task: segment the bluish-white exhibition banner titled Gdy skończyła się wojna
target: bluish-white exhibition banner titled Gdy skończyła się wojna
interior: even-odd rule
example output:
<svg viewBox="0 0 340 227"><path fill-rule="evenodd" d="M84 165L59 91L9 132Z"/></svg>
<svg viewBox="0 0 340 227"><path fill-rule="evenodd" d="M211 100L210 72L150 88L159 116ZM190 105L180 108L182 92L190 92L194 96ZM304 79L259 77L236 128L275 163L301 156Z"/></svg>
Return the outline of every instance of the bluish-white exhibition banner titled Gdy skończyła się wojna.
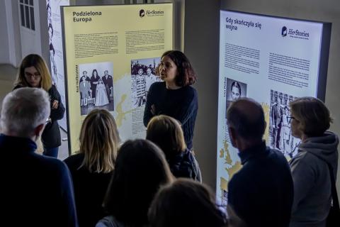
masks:
<svg viewBox="0 0 340 227"><path fill-rule="evenodd" d="M258 101L266 118L264 139L290 159L299 140L290 133L289 103L324 99L331 23L220 11L217 126L217 199L227 204L227 184L241 167L227 128L229 104Z"/></svg>

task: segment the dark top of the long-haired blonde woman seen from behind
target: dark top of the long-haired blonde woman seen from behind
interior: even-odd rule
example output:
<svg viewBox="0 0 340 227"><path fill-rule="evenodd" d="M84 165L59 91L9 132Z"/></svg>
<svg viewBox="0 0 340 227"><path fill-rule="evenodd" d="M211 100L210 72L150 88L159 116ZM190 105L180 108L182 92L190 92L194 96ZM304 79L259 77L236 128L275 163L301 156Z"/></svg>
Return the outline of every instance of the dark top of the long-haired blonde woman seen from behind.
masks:
<svg viewBox="0 0 340 227"><path fill-rule="evenodd" d="M90 172L86 167L80 167L83 160L84 154L77 154L67 157L64 162L73 179L79 226L93 227L105 216L102 204L112 172Z"/></svg>

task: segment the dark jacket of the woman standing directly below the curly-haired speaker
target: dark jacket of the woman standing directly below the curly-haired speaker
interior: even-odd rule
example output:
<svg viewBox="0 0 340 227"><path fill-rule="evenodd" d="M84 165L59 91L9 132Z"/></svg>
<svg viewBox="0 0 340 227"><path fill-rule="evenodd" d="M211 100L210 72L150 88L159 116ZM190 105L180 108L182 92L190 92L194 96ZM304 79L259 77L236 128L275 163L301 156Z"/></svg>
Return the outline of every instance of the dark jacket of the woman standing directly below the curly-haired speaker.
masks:
<svg viewBox="0 0 340 227"><path fill-rule="evenodd" d="M202 182L200 167L190 150L186 149L178 155L169 158L167 161L175 177L186 177Z"/></svg>

